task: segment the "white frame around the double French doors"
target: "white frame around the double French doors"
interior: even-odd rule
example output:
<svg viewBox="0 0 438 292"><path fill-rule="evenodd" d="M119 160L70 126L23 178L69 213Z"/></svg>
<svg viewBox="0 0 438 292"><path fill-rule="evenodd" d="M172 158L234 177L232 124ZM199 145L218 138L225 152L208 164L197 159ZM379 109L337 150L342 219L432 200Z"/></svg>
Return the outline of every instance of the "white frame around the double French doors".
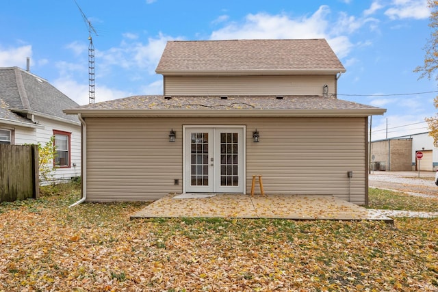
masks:
<svg viewBox="0 0 438 292"><path fill-rule="evenodd" d="M187 130L188 129L242 129L242 191L238 191L239 194L245 194L246 192L246 126L245 125L227 125L227 124L211 124L211 125L183 125L183 193L185 194L187 191L188 185L188 165L190 165L190 161L187 159L187 154L190 149L187 149L188 137ZM212 142L214 141L211 140ZM215 150L214 155L216 156L217 150ZM216 160L216 157L215 157ZM215 161L219 162L219 161ZM189 164L187 164L189 163Z"/></svg>

